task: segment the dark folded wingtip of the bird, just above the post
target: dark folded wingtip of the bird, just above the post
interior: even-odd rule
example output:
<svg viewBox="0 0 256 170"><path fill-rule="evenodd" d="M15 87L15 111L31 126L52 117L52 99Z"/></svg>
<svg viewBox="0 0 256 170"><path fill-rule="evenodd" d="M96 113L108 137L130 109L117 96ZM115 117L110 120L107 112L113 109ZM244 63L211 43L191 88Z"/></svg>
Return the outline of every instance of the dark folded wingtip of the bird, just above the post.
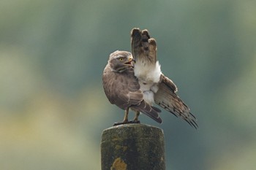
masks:
<svg viewBox="0 0 256 170"><path fill-rule="evenodd" d="M153 107L150 104L147 104L146 101L141 101L140 104L132 106L132 109L144 113L148 117L151 117L151 119L155 120L157 123L162 123L162 119L159 117L161 110L157 107Z"/></svg>

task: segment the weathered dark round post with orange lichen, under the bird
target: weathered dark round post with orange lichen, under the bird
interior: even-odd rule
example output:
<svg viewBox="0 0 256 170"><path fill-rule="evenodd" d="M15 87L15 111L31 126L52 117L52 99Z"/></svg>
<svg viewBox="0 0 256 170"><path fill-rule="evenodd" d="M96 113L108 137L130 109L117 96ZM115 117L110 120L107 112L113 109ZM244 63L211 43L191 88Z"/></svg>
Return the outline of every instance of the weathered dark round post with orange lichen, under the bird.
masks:
<svg viewBox="0 0 256 170"><path fill-rule="evenodd" d="M103 131L102 170L165 170L165 142L161 128L124 124Z"/></svg>

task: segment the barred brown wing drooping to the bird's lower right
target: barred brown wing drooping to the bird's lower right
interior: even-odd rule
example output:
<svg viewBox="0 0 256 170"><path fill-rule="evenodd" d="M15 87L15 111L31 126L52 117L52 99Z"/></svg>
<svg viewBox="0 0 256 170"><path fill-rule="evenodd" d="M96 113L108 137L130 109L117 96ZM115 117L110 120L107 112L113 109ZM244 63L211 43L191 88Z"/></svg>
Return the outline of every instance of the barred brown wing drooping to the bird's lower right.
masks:
<svg viewBox="0 0 256 170"><path fill-rule="evenodd" d="M190 112L189 107L179 98L176 94L176 85L164 74L161 75L159 82L159 90L154 94L154 101L160 107L166 109L168 112L173 113L176 117L181 117L189 125L197 128L196 118Z"/></svg>

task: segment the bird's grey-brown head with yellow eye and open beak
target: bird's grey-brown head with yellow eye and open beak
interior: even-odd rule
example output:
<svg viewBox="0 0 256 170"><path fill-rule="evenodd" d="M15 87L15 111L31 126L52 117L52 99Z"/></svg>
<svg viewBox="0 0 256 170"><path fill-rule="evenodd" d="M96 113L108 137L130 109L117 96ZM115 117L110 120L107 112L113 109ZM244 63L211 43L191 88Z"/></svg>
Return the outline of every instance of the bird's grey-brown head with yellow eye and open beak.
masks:
<svg viewBox="0 0 256 170"><path fill-rule="evenodd" d="M115 51L110 54L108 63L110 67L115 72L124 72L125 70L132 68L135 62L132 57L132 53L127 51Z"/></svg>

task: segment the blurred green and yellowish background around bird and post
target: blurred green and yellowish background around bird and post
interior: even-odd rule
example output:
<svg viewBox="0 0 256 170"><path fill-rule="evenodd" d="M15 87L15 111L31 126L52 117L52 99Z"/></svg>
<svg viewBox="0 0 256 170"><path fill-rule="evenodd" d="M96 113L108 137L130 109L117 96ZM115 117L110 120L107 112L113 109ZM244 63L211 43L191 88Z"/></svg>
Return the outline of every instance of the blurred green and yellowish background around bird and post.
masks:
<svg viewBox="0 0 256 170"><path fill-rule="evenodd" d="M157 39L162 72L199 129L162 112L168 170L255 169L256 1L0 2L0 169L100 169L102 130L122 120L102 90L129 32ZM133 115L132 115L133 117Z"/></svg>

